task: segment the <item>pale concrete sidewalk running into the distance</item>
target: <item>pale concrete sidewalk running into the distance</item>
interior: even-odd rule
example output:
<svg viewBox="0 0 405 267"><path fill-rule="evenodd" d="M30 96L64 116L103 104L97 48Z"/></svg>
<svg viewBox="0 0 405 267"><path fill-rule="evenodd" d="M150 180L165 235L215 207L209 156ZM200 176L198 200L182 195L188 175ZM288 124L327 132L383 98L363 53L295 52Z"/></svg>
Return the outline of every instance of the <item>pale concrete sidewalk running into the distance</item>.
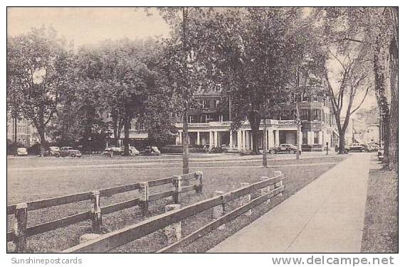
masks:
<svg viewBox="0 0 405 267"><path fill-rule="evenodd" d="M207 252L359 253L369 159L353 154Z"/></svg>

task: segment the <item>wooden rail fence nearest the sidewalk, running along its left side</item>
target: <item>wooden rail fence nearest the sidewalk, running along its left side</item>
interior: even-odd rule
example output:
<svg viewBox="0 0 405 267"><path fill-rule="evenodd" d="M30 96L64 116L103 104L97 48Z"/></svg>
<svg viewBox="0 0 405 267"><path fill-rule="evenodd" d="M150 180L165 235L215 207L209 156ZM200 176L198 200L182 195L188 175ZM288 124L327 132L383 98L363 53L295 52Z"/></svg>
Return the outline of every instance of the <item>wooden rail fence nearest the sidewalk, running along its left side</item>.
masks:
<svg viewBox="0 0 405 267"><path fill-rule="evenodd" d="M189 205L181 209L175 209L164 214L150 217L149 219L146 219L137 224L133 224L129 227L112 231L107 234L103 234L96 239L87 241L83 244L78 244L77 246L73 246L72 248L66 249L65 251L61 252L107 252L131 241L134 241L135 239L139 239L142 236L146 236L147 234L150 234L154 231L157 231L164 227L169 227L172 224L177 224L183 219L198 214L199 212L204 212L207 209L218 206L224 207L227 202L248 196L248 202L243 202L243 205L241 205L241 207L238 207L237 209L234 209L232 212L228 212L227 214L223 214L223 216L215 219L213 222L206 224L204 227L201 227L200 229L192 232L191 234L185 236L182 239L179 239L173 244L170 244L169 246L157 252L179 251L182 249L182 247L190 244L193 241L196 241L196 239L201 238L205 234L208 234L210 231L220 227L226 222L229 222L231 219L234 219L246 212L250 212L250 210L256 205L266 202L276 195L281 195L285 190L285 186L283 185L284 178L285 174L275 172L275 176L272 178L261 178L260 182L248 184L239 188L238 190L233 190L226 194L217 195L216 197L211 197L207 200L197 202L193 205ZM256 197L251 200L251 193L257 190L260 190L261 192L260 197Z"/></svg>

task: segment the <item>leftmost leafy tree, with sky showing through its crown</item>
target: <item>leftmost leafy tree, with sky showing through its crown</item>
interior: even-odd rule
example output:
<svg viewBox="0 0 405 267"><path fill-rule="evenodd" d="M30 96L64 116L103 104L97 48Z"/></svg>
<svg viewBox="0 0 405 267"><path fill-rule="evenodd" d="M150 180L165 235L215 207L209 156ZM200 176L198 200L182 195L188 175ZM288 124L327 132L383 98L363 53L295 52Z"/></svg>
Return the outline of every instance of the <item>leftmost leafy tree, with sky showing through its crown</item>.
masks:
<svg viewBox="0 0 405 267"><path fill-rule="evenodd" d="M46 126L56 114L60 92L68 83L65 77L70 54L56 31L44 27L9 37L8 47L8 68L18 73L9 94L21 96L21 114L36 127L43 156Z"/></svg>

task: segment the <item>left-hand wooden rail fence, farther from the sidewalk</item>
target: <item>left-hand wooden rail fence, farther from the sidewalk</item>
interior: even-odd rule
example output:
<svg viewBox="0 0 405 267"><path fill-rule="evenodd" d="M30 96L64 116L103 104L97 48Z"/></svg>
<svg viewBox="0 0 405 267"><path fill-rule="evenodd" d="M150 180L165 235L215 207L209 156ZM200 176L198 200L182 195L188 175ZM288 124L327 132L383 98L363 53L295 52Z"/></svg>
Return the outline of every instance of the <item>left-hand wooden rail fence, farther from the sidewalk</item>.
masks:
<svg viewBox="0 0 405 267"><path fill-rule="evenodd" d="M194 180L192 182L191 180ZM185 181L185 182L182 182ZM191 182L190 182L191 181ZM66 195L63 197L53 197L46 200L35 200L32 202L19 203L7 206L7 215L14 214L13 230L7 232L7 242L13 241L15 244L15 252L26 251L26 238L36 234L42 234L46 231L51 231L61 227L66 227L70 224L76 224L90 219L92 222L93 231L99 233L102 227L102 214L117 212L121 209L140 206L142 215L147 216L149 202L161 200L166 197L172 197L174 203L179 202L179 194L184 192L195 191L197 194L202 192L203 173L188 173L185 175L174 175L171 178L163 178L158 180L150 180L147 182L135 182L130 185L120 185L117 187L105 188L93 192L83 192L75 195ZM172 189L164 192L159 192L154 195L149 195L149 187L157 187L159 185L172 184ZM183 184L191 184L182 186ZM120 202L105 207L100 207L100 197L107 197L122 192L139 190L140 197L135 197L125 202ZM28 211L35 209L43 209L65 205L73 202L91 200L90 211L81 212L78 214L55 219L51 222L37 224L27 228Z"/></svg>

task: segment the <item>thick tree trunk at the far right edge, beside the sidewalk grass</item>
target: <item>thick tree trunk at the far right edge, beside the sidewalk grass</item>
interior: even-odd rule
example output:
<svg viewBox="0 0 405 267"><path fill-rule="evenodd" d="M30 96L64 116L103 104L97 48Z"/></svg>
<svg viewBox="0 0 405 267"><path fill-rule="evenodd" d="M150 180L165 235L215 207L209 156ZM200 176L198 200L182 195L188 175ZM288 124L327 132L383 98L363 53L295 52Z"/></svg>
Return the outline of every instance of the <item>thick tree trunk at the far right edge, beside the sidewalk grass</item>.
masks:
<svg viewBox="0 0 405 267"><path fill-rule="evenodd" d="M398 50L394 38L389 48L391 110L389 112L389 170L398 170ZM385 154L385 151L384 151Z"/></svg>

